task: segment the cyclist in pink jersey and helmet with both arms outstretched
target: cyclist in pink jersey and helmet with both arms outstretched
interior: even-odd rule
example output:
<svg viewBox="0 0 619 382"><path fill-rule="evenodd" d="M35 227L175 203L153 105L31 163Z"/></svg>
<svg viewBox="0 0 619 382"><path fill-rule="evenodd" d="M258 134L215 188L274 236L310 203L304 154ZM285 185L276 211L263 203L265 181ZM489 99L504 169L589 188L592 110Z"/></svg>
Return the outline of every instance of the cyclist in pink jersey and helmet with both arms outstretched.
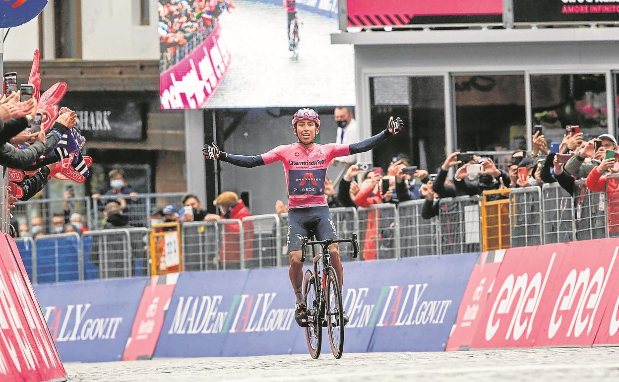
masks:
<svg viewBox="0 0 619 382"><path fill-rule="evenodd" d="M315 235L317 240L337 239L335 224L327 205L324 194L324 182L327 167L333 158L358 154L378 147L389 137L404 129L402 119L391 117L387 128L373 137L353 144L316 144L316 134L320 131L320 118L316 111L303 108L292 118L292 132L297 142L280 145L266 154L249 157L232 155L220 151L217 145L204 145L204 156L219 159L240 167L256 167L270 165L275 162L284 163L286 183L288 186L288 258L290 269L288 274L292 289L295 292L295 320L299 326L308 326L305 299L301 292L303 283L303 263L301 263L301 245L303 237ZM332 265L337 274L337 280L342 288L344 269L339 257L339 245L329 246ZM348 315L344 313L344 324Z"/></svg>

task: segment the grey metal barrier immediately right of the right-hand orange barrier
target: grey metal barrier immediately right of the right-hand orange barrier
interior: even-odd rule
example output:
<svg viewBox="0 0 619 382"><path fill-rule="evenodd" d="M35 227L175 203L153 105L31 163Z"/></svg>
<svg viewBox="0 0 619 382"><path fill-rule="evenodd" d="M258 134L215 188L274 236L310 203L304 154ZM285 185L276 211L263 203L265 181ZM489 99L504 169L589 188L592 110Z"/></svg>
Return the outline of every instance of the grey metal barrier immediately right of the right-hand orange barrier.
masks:
<svg viewBox="0 0 619 382"><path fill-rule="evenodd" d="M542 244L542 189L513 188L509 194L511 248Z"/></svg>

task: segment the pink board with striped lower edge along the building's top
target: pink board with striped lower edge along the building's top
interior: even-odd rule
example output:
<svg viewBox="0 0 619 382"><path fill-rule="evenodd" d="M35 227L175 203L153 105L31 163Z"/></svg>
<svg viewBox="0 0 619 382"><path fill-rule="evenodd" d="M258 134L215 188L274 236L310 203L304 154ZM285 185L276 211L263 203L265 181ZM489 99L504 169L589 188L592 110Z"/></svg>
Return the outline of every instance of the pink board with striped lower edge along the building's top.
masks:
<svg viewBox="0 0 619 382"><path fill-rule="evenodd" d="M503 0L348 0L348 26L500 23Z"/></svg>

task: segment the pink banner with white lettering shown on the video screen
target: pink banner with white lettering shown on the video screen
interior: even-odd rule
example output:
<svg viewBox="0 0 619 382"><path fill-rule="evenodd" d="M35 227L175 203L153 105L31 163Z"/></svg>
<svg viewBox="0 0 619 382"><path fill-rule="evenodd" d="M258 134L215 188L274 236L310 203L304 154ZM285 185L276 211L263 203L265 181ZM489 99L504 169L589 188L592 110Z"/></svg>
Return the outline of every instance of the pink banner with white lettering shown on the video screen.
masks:
<svg viewBox="0 0 619 382"><path fill-rule="evenodd" d="M162 109L202 108L222 83L230 53L220 24L202 43L159 75Z"/></svg>

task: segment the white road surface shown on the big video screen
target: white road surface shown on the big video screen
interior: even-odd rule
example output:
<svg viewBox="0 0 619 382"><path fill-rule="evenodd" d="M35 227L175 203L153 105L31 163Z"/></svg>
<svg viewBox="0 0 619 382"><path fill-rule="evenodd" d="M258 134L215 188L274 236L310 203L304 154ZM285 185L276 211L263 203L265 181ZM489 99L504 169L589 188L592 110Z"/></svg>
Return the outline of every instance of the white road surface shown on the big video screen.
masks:
<svg viewBox="0 0 619 382"><path fill-rule="evenodd" d="M331 45L337 21L298 12L298 60L288 51L284 7L238 0L220 18L232 64L208 108L353 105L353 48Z"/></svg>

